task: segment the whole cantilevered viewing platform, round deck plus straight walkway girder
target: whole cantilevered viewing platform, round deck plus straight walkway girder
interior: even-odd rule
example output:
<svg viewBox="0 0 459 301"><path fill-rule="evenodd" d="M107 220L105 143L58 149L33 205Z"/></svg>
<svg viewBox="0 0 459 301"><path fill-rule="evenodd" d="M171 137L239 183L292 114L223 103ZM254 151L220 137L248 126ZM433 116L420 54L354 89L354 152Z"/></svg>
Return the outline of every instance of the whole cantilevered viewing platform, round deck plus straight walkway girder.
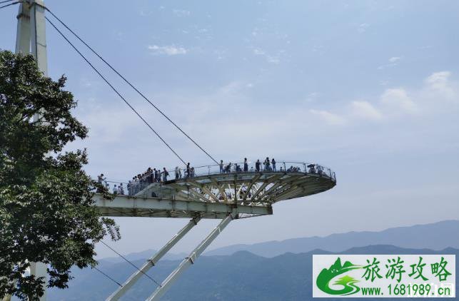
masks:
<svg viewBox="0 0 459 301"><path fill-rule="evenodd" d="M329 190L336 185L330 168L316 163L278 161L205 165L168 169L168 180L146 175L118 183L127 194L114 200L96 195L101 215L148 218L246 218L273 214L273 203ZM172 178L172 180L170 180Z"/></svg>

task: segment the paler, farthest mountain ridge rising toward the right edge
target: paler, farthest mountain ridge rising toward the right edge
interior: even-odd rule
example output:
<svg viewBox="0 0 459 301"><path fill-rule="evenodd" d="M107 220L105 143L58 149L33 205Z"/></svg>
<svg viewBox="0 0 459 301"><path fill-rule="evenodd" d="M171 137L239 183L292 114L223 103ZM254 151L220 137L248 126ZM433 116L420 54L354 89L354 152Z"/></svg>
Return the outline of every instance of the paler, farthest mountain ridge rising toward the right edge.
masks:
<svg viewBox="0 0 459 301"><path fill-rule="evenodd" d="M349 232L326 237L291 238L253 245L229 245L210 250L204 255L231 255L241 250L263 257L274 257L286 252L302 253L314 249L342 252L368 245L394 245L400 248L443 250L459 248L459 220L445 220L438 223L389 228L379 232Z"/></svg>

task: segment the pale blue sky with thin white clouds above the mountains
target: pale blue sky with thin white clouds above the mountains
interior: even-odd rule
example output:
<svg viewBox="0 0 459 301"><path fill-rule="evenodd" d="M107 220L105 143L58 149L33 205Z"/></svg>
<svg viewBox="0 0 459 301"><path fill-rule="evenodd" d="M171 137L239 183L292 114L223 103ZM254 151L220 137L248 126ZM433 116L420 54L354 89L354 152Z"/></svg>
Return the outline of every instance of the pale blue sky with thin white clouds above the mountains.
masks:
<svg viewBox="0 0 459 301"><path fill-rule="evenodd" d="M236 220L209 249L459 219L458 1L46 6L217 160L269 156L336 172L332 190ZM0 10L0 49L14 50L17 9ZM67 76L79 101L74 113L90 128L70 146L88 149L89 174L126 181L179 165L49 24L46 36L49 76ZM84 53L186 161L212 163ZM116 222L122 239L110 244L126 254L158 250L187 220ZM201 221L171 252L191 251L217 223ZM97 251L114 256L104 245Z"/></svg>

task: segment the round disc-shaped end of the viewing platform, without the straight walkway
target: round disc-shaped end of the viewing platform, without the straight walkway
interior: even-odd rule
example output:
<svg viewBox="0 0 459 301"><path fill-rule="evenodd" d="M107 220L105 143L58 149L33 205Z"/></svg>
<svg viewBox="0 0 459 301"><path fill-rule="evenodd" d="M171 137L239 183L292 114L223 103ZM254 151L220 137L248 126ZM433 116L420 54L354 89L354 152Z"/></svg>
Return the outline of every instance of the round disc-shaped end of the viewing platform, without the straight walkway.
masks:
<svg viewBox="0 0 459 301"><path fill-rule="evenodd" d="M175 175L175 171L170 172ZM301 198L329 190L336 185L336 175L330 168L315 163L277 162L226 163L206 165L182 177L167 180L164 187L173 188L178 200L191 198L211 203L241 205L273 204L280 200Z"/></svg>

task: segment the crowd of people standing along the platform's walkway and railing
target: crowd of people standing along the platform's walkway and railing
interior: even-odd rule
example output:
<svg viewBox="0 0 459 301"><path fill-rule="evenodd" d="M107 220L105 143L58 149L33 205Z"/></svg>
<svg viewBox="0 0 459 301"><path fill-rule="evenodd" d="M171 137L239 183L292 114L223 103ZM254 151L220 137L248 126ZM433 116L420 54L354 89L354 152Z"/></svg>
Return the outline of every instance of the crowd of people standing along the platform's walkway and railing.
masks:
<svg viewBox="0 0 459 301"><path fill-rule="evenodd" d="M242 165L242 166L241 166ZM283 163L283 167L279 168L276 167L276 160L272 158L270 160L269 157L266 157L263 162L259 159L256 160L255 166L251 166L249 170L249 162L247 158L244 158L243 163L223 163L223 160L220 160L218 164L220 168L220 173L231 173L231 172L261 172L261 171L279 171L279 172L286 172L286 173L316 173L318 175L323 175L323 167L321 165L316 164L309 164L305 165L305 170L303 171L301 167L291 165L290 168L286 168L286 164ZM209 169L210 170L210 169ZM174 170L174 177L176 180L181 178L193 178L196 176L195 168L190 165L190 163L186 164L186 168L178 168L176 166ZM164 167L162 170L161 168L148 168L144 173L139 173L138 175L134 175L131 180L128 181L126 185L126 190L128 195L136 195L139 191L146 188L146 186L152 183L165 183L168 181L169 172ZM106 178L104 178L104 174L98 175L98 182L101 185L105 185L106 188L110 191L110 185L107 183ZM118 195L124 195L123 183L114 184L111 192Z"/></svg>

